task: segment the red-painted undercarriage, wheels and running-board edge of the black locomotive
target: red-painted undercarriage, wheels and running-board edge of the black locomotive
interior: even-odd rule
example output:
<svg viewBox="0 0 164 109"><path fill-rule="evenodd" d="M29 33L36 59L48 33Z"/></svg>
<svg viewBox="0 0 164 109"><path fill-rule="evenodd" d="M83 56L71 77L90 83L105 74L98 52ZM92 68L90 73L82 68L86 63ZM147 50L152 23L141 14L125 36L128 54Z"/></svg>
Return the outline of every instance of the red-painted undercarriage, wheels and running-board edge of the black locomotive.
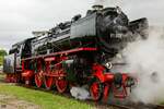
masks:
<svg viewBox="0 0 164 109"><path fill-rule="evenodd" d="M26 85L32 84L32 80L35 80L37 87L42 87L44 84L47 89L50 89L51 86L56 85L59 93L65 93L68 88L69 82L66 80L66 71L62 69L61 62L68 59L68 55L77 53L81 51L94 52L97 48L77 48L67 51L55 52L50 55L44 55L38 57L32 57L22 59L22 71L20 73L7 74L7 82L19 82L23 81ZM42 61L45 61L45 68L42 65ZM56 61L54 69L50 70L50 63ZM37 63L36 71L30 70L28 66L31 62ZM45 70L44 70L44 69ZM119 89L114 84L115 74L110 72L104 73L104 66L97 63L93 63L92 66L92 76L89 76L87 80L93 77L96 78L90 87L91 96L94 100L99 100L102 97L107 100L109 92L114 94L116 98L126 98L127 88L130 86L127 85L127 80L129 78L128 74L122 73L122 82L119 86ZM101 90L99 85L103 84L103 90ZM120 90L121 87L121 90Z"/></svg>

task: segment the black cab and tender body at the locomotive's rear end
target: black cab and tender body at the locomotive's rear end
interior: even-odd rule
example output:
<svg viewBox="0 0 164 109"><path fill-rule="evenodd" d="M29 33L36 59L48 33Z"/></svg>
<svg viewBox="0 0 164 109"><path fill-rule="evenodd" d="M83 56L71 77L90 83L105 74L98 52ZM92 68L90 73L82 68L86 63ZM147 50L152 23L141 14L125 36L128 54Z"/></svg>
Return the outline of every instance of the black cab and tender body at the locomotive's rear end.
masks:
<svg viewBox="0 0 164 109"><path fill-rule="evenodd" d="M16 73L22 71L21 59L32 56L31 40L32 38L12 46L9 56L4 57L4 73Z"/></svg>

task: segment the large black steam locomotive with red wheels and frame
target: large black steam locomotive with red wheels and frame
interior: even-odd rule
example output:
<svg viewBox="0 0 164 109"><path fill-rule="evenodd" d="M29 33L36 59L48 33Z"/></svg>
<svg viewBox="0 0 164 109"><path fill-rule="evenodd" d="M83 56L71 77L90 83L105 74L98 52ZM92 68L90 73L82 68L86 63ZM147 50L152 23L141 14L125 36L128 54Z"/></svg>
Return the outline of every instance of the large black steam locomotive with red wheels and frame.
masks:
<svg viewBox="0 0 164 109"><path fill-rule="evenodd" d="M86 15L60 23L35 37L12 46L4 58L7 82L57 87L65 93L72 86L87 86L94 100L126 98L134 78L127 73L110 72L113 60L138 38L148 37L145 17L129 22L120 8L93 5Z"/></svg>

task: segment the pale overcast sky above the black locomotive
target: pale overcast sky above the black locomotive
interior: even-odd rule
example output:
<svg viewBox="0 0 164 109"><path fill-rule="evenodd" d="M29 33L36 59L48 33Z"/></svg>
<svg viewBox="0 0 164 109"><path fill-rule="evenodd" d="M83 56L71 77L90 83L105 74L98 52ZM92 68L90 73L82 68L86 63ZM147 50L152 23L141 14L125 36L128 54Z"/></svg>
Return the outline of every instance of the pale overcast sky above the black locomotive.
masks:
<svg viewBox="0 0 164 109"><path fill-rule="evenodd" d="M164 25L164 0L0 0L0 48L33 37L33 31L47 31L85 15L94 3L119 5L130 20L148 17L150 25Z"/></svg>

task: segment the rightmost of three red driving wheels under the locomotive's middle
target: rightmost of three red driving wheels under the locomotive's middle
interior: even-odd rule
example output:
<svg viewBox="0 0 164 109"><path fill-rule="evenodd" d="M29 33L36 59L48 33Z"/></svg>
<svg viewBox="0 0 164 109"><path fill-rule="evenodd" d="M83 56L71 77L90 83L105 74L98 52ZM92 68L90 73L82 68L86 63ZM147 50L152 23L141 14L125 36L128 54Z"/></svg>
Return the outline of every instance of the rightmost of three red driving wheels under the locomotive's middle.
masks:
<svg viewBox="0 0 164 109"><path fill-rule="evenodd" d="M65 78L56 80L56 86L57 86L57 89L59 93L63 93L63 92L66 92L66 89L68 87L68 82Z"/></svg>

